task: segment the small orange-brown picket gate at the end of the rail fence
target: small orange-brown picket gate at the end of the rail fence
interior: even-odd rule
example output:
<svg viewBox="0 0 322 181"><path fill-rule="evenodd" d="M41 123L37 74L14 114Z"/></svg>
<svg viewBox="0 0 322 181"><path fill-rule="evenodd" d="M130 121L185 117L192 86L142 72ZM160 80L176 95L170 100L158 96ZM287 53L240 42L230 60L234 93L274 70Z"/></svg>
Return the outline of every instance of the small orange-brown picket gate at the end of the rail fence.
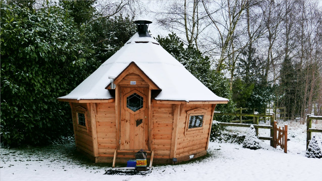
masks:
<svg viewBox="0 0 322 181"><path fill-rule="evenodd" d="M287 153L287 124L281 129L280 126L277 127L277 121L274 121L273 130L273 147L280 146L280 148L284 149L284 153Z"/></svg>

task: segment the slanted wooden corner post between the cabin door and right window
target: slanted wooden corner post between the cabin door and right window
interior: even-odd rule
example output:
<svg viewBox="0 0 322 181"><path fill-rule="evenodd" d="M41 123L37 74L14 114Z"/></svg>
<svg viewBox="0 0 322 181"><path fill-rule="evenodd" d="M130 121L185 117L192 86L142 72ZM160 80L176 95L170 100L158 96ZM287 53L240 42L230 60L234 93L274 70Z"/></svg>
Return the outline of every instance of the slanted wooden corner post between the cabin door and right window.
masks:
<svg viewBox="0 0 322 181"><path fill-rule="evenodd" d="M175 106L174 106L170 158L175 158L176 157L177 137L178 137L178 122L179 122L179 118L180 118L180 107L181 106L182 105L180 105L180 104L175 104Z"/></svg>

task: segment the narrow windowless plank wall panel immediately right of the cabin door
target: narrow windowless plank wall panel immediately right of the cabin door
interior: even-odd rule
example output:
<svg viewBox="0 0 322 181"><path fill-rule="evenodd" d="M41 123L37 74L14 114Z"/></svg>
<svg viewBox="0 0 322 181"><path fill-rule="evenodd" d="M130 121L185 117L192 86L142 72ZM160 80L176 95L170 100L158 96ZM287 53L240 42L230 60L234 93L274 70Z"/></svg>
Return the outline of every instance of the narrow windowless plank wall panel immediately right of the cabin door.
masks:
<svg viewBox="0 0 322 181"><path fill-rule="evenodd" d="M154 158L170 159L173 105L154 103L152 109L152 150L155 150Z"/></svg>

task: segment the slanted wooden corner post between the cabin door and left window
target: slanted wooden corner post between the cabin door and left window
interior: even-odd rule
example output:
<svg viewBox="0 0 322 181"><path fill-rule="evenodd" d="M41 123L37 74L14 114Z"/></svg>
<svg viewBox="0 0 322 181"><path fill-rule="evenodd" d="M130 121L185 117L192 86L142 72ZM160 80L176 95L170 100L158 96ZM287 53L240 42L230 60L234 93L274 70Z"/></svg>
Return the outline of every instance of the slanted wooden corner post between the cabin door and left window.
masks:
<svg viewBox="0 0 322 181"><path fill-rule="evenodd" d="M93 156L99 156L98 140L97 140L97 129L96 129L96 103L89 103L90 108L90 124L92 127L92 140L93 140Z"/></svg>

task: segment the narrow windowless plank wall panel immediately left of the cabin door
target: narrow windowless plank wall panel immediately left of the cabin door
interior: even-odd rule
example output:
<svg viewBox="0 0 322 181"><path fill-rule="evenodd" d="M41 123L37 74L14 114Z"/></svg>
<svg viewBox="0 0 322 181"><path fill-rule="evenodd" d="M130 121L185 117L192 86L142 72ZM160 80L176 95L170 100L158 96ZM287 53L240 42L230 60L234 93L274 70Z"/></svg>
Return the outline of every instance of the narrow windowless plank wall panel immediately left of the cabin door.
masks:
<svg viewBox="0 0 322 181"><path fill-rule="evenodd" d="M116 149L115 103L96 103L99 157L113 157Z"/></svg>

